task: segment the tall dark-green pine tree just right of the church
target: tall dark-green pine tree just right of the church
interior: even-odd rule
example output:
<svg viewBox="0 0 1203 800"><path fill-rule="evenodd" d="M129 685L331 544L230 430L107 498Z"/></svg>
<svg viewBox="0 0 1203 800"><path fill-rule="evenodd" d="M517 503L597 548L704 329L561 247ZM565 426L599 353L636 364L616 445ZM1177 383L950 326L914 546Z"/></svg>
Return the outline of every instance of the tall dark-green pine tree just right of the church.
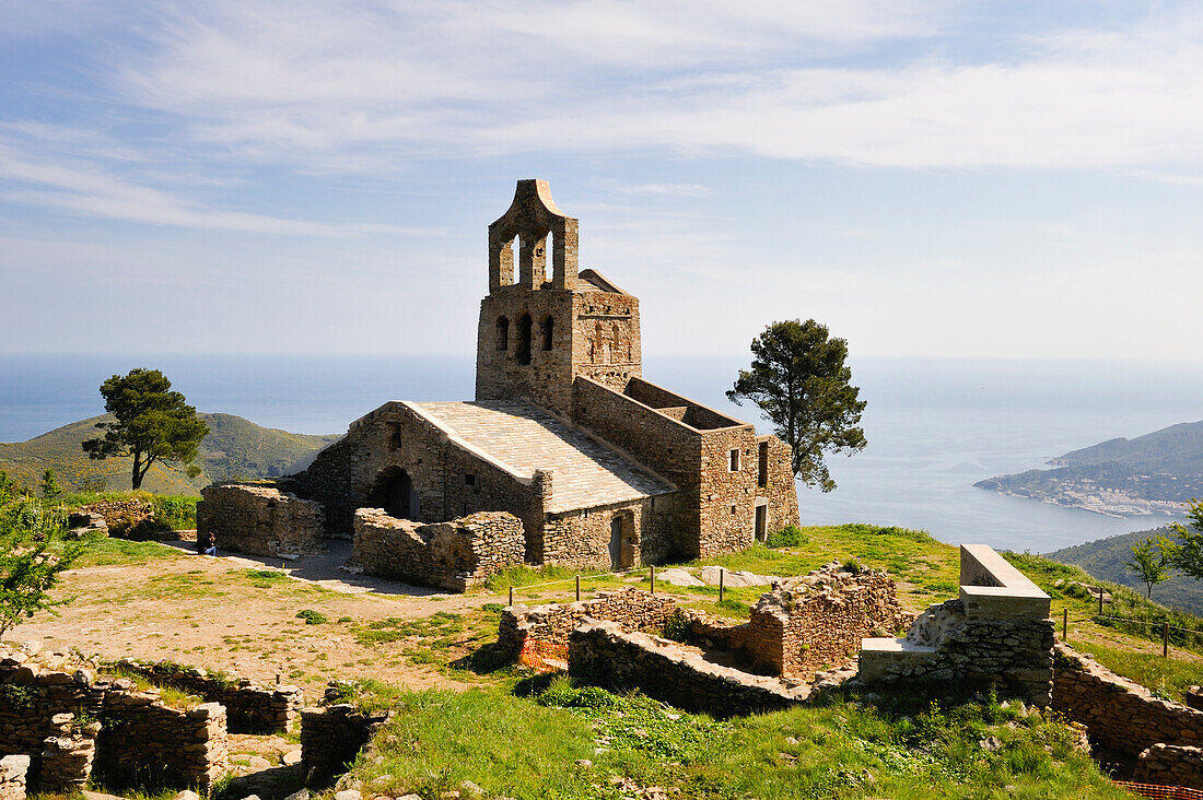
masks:
<svg viewBox="0 0 1203 800"><path fill-rule="evenodd" d="M824 492L836 487L824 454L865 449L865 401L852 385L848 343L814 320L774 322L752 340L752 368L741 369L727 397L749 399L793 450L794 475Z"/></svg>

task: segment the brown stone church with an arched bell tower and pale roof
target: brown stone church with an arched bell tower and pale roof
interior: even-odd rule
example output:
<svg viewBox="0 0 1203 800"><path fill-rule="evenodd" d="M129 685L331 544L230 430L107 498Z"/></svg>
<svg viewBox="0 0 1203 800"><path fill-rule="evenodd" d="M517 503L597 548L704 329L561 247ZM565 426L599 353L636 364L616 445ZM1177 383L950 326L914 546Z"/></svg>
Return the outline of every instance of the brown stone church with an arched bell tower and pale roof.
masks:
<svg viewBox="0 0 1203 800"><path fill-rule="evenodd" d="M520 180L488 226L476 398L385 403L289 484L326 537L362 508L509 511L532 564L695 558L799 521L788 445L644 380L639 300L577 272L577 220L544 180Z"/></svg>

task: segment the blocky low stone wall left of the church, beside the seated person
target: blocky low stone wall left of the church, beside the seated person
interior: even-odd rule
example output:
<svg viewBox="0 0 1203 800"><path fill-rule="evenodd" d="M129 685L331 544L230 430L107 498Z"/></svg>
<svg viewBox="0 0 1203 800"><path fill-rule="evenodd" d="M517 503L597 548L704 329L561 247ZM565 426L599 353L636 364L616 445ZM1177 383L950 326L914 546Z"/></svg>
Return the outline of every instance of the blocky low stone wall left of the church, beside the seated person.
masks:
<svg viewBox="0 0 1203 800"><path fill-rule="evenodd" d="M268 484L213 484L196 504L197 540L253 556L307 556L321 550L321 505Z"/></svg>

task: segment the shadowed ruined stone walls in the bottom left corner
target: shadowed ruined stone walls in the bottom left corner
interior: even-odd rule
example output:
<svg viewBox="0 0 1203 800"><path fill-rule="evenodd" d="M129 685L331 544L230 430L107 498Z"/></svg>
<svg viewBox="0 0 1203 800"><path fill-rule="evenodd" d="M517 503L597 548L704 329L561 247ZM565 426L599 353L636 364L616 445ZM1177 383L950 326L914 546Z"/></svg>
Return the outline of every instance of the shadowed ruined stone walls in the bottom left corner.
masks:
<svg viewBox="0 0 1203 800"><path fill-rule="evenodd" d="M65 653L0 652L0 757L30 757L30 788L70 790L94 772L115 786L207 790L224 774L225 709L172 709L158 691L97 678L94 669Z"/></svg>

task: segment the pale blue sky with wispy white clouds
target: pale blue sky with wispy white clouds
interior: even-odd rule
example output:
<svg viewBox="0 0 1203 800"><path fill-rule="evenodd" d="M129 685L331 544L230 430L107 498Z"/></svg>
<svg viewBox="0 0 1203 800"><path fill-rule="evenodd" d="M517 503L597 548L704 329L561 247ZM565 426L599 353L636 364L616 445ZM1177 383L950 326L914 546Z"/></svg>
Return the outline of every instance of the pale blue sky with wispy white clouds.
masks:
<svg viewBox="0 0 1203 800"><path fill-rule="evenodd" d="M1197 4L8 0L0 351L469 352L526 177L646 352L1203 343Z"/></svg>

